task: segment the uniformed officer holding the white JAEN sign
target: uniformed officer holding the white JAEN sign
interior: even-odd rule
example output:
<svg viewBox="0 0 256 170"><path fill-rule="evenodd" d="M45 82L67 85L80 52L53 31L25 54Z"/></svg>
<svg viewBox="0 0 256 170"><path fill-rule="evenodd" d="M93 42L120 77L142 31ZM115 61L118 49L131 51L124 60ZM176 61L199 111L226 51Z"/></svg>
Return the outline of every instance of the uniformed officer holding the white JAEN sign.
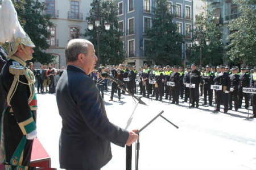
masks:
<svg viewBox="0 0 256 170"><path fill-rule="evenodd" d="M220 73L214 77L213 81L216 85L221 85L222 90L216 90L216 110L214 112L220 111L221 102L224 103L224 113L228 112L228 103L229 103L229 91L230 91L230 77L229 73L225 72L225 67L220 66Z"/></svg>

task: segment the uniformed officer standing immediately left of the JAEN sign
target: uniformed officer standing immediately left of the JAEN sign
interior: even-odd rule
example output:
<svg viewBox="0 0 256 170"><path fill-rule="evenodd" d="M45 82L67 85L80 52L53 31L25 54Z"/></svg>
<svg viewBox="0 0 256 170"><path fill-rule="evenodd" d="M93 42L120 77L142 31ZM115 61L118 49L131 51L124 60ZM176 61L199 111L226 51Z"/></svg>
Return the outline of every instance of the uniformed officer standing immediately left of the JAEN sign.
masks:
<svg viewBox="0 0 256 170"><path fill-rule="evenodd" d="M207 96L209 100L209 106L212 106L212 90L210 89L210 85L213 84L214 74L210 72L210 66L206 66L206 72L202 75L203 80L203 89L204 89L204 105L207 105Z"/></svg>

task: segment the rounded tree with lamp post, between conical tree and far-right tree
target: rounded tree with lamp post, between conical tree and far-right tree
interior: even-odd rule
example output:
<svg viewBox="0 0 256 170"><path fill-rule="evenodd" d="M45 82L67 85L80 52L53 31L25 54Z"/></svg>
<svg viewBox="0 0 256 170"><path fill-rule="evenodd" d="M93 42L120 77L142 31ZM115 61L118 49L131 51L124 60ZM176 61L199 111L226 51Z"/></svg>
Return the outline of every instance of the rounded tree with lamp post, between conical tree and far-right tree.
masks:
<svg viewBox="0 0 256 170"><path fill-rule="evenodd" d="M202 53L202 65L219 65L223 63L224 45L222 32L217 24L213 13L201 13L196 15L195 27L193 29L193 42L199 42ZM209 41L209 45L207 45ZM191 46L191 63L200 63L200 47L196 43Z"/></svg>

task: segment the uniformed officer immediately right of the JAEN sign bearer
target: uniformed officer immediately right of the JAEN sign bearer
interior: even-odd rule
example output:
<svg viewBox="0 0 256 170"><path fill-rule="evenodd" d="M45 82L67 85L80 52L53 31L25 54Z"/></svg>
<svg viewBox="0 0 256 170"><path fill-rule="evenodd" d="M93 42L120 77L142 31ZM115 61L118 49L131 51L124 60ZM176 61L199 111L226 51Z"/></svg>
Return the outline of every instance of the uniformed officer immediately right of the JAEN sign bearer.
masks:
<svg viewBox="0 0 256 170"><path fill-rule="evenodd" d="M232 101L234 101L234 108L238 110L238 86L240 82L240 76L236 74L236 68L232 68L232 74L229 75L230 77L230 92L229 92L229 110L232 110Z"/></svg>

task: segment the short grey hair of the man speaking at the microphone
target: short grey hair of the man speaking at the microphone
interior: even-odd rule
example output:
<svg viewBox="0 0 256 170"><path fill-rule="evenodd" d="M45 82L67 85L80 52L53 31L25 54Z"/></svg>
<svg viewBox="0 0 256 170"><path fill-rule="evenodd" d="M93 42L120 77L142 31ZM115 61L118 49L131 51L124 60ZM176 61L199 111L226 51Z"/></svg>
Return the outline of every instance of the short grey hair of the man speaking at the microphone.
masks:
<svg viewBox="0 0 256 170"><path fill-rule="evenodd" d="M89 44L92 43L85 39L70 40L65 48L66 62L76 61L80 53L87 55Z"/></svg>

